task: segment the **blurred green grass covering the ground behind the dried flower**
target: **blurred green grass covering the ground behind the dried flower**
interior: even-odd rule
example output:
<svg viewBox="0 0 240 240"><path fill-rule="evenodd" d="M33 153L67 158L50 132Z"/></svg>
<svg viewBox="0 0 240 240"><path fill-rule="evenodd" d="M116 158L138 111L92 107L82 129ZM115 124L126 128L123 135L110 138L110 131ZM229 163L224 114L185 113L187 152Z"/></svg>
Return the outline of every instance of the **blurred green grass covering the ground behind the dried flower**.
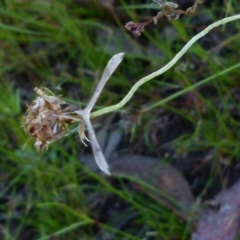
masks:
<svg viewBox="0 0 240 240"><path fill-rule="evenodd" d="M136 18L134 9L139 2L122 2L122 9L129 13L129 21ZM130 6L129 6L129 5ZM231 6L231 7L230 7ZM128 9L129 7L129 9ZM212 4L214 11L231 16L239 12L236 1L228 5ZM149 14L148 10L141 10ZM97 108L119 102L131 86L143 76L165 65L196 33L194 24L201 14L210 16L211 22L220 19L210 7L201 5L193 17L184 17L170 23L179 34L176 39L166 39L161 33L161 23L144 32L145 42L151 42L161 54L147 54L144 44L136 43L123 28L107 22L108 16L93 8L83 8L73 1L14 1L5 0L0 6L0 234L2 239L23 239L23 230L32 232L33 239L94 239L103 231L114 239L189 239L188 223L181 222L168 209L137 191L131 191L125 181L120 187L90 172L80 164L79 151L84 148L76 134L50 146L48 151L37 155L20 127L25 103L34 99L34 86L50 87L63 95L87 102L94 91L101 73L114 53L127 51L126 44L138 52L126 52L125 60L111 77ZM208 25L208 24L207 24ZM120 30L115 38L113 31ZM202 26L200 26L201 28ZM96 30L106 36L100 42ZM142 86L127 104L140 112L133 126L132 141L142 136L148 152L154 152L149 126L152 119L160 117L159 104L166 111L184 117L193 126L174 140L177 153L213 148L214 166L219 159L227 163L238 161L239 114L238 102L240 68L238 22L218 28L220 53L214 51L215 41L196 43L179 62L189 66L185 72L172 69ZM215 36L216 36L215 35ZM111 44L114 44L113 50ZM212 50L212 52L210 52ZM231 71L230 71L230 70ZM217 76L217 77L216 77ZM210 82L209 79L212 78ZM194 84L206 80L198 88ZM114 91L118 89L119 94ZM164 89L173 93L166 96ZM196 104L184 103L179 97L191 93ZM210 90L209 90L210 89ZM235 95L233 93L236 93ZM107 117L107 115L106 115ZM96 119L97 122L97 119ZM135 128L134 128L135 127ZM202 194L211 186L218 174L217 167L208 176L209 181ZM147 186L143 186L147 188ZM107 209L101 209L101 199L117 196L123 204L119 216L109 217ZM103 211L106 211L103 212ZM99 216L108 216L108 221ZM130 219L130 220L128 220ZM122 222L128 222L119 230ZM51 237L54 234L55 237ZM1 235L0 235L1 236Z"/></svg>

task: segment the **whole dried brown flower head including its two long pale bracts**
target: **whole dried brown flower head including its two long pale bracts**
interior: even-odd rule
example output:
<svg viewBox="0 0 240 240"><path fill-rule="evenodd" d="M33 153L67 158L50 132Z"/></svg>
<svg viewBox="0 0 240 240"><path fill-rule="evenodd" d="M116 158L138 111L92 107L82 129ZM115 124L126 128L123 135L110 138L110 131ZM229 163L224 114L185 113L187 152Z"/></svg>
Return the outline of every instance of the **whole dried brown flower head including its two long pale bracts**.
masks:
<svg viewBox="0 0 240 240"><path fill-rule="evenodd" d="M85 144L85 140L89 141L85 136L86 126L96 163L103 172L110 174L109 166L97 141L90 117L92 108L100 96L104 85L123 60L123 55L124 53L118 53L110 59L93 96L87 107L83 110L78 109L76 111L76 109L72 109L71 107L66 109L64 105L69 104L66 104L59 97L54 96L47 88L39 89L36 87L34 89L38 97L28 106L22 126L25 132L31 135L31 138L35 139L35 148L37 151L47 148L54 140L68 135L70 133L68 125L73 121L79 122L78 134L82 143Z"/></svg>

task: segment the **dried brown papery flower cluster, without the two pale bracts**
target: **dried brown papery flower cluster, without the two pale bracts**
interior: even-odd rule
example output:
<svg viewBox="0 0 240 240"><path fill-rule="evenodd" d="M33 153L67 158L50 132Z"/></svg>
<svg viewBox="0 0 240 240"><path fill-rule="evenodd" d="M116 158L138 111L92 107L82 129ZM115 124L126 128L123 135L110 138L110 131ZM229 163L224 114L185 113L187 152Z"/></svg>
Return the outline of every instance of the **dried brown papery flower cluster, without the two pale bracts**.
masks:
<svg viewBox="0 0 240 240"><path fill-rule="evenodd" d="M65 102L54 96L47 88L35 88L39 95L28 106L23 127L35 139L37 151L47 148L49 143L67 134L67 126L73 121L66 118L63 111Z"/></svg>

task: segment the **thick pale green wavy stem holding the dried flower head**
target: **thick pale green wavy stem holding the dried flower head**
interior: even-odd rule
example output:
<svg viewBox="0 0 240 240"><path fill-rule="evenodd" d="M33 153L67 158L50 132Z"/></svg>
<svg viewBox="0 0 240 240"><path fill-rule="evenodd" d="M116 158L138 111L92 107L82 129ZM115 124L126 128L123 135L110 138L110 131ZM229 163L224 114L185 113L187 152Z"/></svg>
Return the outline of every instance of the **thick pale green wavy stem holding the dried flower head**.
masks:
<svg viewBox="0 0 240 240"><path fill-rule="evenodd" d="M207 28L205 28L203 31L201 31L200 33L195 35L167 65L165 65L164 67L162 67L161 69L157 70L156 72L153 72L153 73L149 74L148 76L140 79L138 82L136 82L133 85L133 87L130 89L130 91L127 93L127 95L119 103L91 113L91 118L95 118L95 117L98 117L100 115L103 115L103 114L106 114L106 113L109 113L109 112L113 112L113 111L116 111L119 108L122 108L131 99L133 94L137 91L137 89L141 85L143 85L144 83L148 82L149 80L151 80L151 79L161 75L162 73L164 73L167 70L169 70L172 66L174 66L174 64L186 53L186 51L197 40L199 40L201 37L205 36L213 28L218 27L219 25L226 24L228 22L237 20L237 19L240 19L240 14L232 16L232 17L223 18L223 19L221 19L221 20L211 24Z"/></svg>

